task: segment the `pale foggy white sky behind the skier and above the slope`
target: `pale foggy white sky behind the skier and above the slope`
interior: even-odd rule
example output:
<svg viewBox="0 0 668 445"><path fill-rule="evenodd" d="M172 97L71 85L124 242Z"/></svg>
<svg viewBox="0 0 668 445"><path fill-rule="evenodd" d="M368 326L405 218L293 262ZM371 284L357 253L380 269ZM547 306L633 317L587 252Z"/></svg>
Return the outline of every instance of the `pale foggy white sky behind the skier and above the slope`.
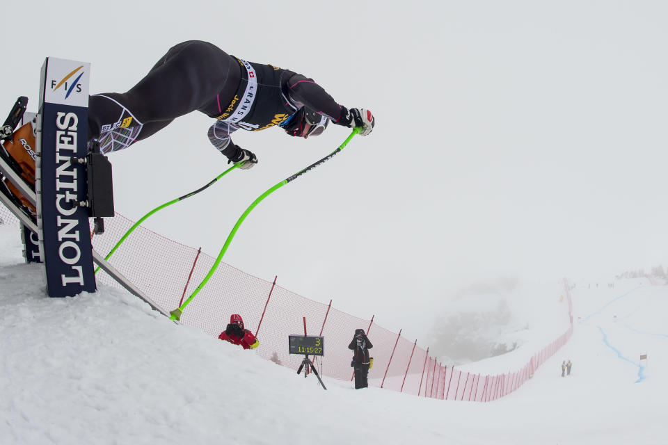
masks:
<svg viewBox="0 0 668 445"><path fill-rule="evenodd" d="M0 104L35 109L46 56L90 62L91 92L122 92L201 39L376 116L250 213L228 264L408 337L477 280L668 266L665 2L146 3L13 4ZM116 210L140 218L225 170L211 123L193 113L113 154ZM348 133L239 131L260 163L147 225L216 256L255 197Z"/></svg>

